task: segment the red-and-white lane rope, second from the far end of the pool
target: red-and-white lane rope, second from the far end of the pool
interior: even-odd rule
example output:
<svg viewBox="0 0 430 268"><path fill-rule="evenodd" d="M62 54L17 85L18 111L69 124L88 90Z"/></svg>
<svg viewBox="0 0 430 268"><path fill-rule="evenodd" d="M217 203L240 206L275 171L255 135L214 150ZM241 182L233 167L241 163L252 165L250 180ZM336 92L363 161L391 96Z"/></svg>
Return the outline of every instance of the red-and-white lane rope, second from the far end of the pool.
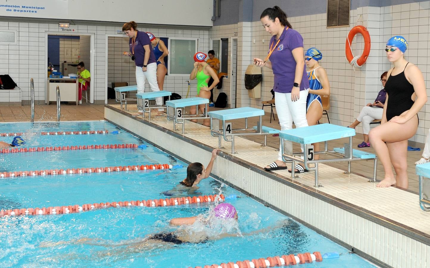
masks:
<svg viewBox="0 0 430 268"><path fill-rule="evenodd" d="M43 151L68 151L68 150L92 150L92 149L125 149L146 147L146 145L128 144L101 144L101 145L76 145L76 146L55 146L55 147L32 147L32 148L6 148L1 149L2 154L11 153L28 153L28 152L43 152Z"/></svg>

